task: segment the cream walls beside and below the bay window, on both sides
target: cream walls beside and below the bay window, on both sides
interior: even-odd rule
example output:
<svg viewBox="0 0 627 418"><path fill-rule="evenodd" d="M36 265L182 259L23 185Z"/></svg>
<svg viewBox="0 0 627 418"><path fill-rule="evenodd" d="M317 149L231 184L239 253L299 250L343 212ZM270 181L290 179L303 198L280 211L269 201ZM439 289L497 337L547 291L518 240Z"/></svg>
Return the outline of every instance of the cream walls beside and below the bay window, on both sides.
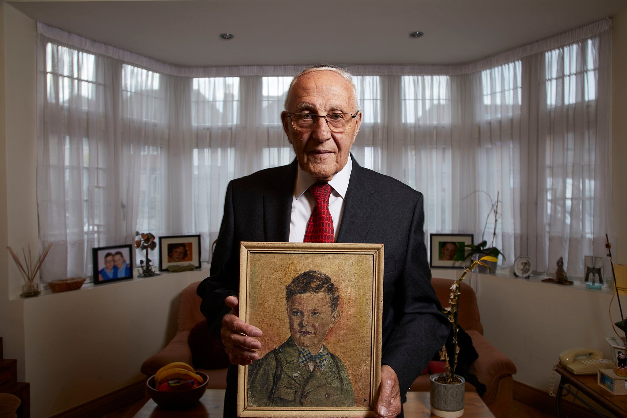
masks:
<svg viewBox="0 0 627 418"><path fill-rule="evenodd" d="M627 157L627 11L614 18L613 31L614 253L627 263L627 195L618 169ZM34 37L34 21L0 0L0 249L37 242ZM0 336L5 357L18 358L19 379L31 383L33 418L139 380L140 364L174 333L177 295L204 276L197 271L22 300L17 269L0 251ZM613 335L609 295L498 276L482 276L478 284L485 335L514 360L516 380L547 389L557 355L573 346L609 355L603 340Z"/></svg>

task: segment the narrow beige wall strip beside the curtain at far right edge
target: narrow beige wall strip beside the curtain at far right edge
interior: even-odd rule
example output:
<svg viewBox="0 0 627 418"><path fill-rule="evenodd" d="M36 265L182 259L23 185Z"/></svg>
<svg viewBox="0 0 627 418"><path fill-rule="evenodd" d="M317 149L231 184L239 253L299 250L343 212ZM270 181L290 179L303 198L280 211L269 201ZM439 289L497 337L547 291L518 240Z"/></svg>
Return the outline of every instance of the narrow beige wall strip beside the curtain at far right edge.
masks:
<svg viewBox="0 0 627 418"><path fill-rule="evenodd" d="M616 261L627 264L627 9L613 16L612 28L612 192L616 226Z"/></svg>

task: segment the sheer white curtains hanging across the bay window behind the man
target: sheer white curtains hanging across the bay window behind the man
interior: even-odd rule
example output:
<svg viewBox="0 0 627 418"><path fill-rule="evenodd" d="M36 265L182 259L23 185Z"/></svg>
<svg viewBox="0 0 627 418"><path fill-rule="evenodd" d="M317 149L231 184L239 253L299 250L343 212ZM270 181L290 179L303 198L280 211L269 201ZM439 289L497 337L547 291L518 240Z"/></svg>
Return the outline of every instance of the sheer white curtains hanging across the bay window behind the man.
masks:
<svg viewBox="0 0 627 418"><path fill-rule="evenodd" d="M425 196L425 232L481 240L511 265L581 276L612 230L609 19L458 66L348 66L359 164ZM38 199L45 279L90 274L90 249L217 238L229 180L288 164L280 112L307 66L181 68L39 24ZM488 219L485 239L493 234Z"/></svg>

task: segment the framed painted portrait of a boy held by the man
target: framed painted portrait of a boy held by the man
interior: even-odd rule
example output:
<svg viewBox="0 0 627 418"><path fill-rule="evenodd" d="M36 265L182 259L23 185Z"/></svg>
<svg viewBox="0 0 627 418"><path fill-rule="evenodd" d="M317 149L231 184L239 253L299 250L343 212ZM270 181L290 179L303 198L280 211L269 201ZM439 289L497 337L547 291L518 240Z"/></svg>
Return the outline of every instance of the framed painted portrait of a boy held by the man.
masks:
<svg viewBox="0 0 627 418"><path fill-rule="evenodd" d="M241 243L238 416L375 417L382 296L382 244Z"/></svg>

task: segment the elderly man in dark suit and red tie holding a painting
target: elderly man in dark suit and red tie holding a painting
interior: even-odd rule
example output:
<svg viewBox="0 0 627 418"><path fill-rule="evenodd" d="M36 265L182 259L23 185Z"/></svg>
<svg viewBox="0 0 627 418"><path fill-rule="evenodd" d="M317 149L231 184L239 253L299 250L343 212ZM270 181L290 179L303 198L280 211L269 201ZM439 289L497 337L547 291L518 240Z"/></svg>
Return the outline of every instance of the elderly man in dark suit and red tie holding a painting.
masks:
<svg viewBox="0 0 627 418"><path fill-rule="evenodd" d="M402 414L414 379L442 347L450 325L431 286L423 196L350 155L361 125L350 74L328 66L298 74L281 115L296 153L290 165L233 180L211 263L198 286L201 311L221 332L233 366L224 416L236 416L237 364L258 360L263 330L238 315L240 241L382 243L385 246L381 386L375 410Z"/></svg>

